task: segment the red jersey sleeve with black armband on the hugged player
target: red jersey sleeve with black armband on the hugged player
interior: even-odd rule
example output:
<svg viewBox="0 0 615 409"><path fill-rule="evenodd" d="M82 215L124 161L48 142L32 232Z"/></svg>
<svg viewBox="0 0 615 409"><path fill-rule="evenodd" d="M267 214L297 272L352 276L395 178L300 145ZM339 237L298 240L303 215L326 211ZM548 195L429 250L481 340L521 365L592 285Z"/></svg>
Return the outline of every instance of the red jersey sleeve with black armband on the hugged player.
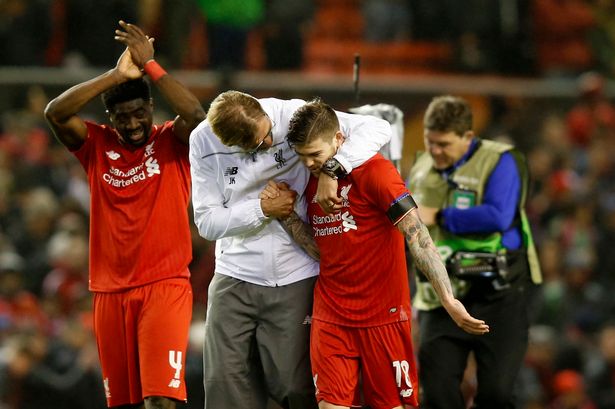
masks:
<svg viewBox="0 0 615 409"><path fill-rule="evenodd" d="M381 157L369 164L364 176L366 193L391 223L397 224L417 205L390 161Z"/></svg>

